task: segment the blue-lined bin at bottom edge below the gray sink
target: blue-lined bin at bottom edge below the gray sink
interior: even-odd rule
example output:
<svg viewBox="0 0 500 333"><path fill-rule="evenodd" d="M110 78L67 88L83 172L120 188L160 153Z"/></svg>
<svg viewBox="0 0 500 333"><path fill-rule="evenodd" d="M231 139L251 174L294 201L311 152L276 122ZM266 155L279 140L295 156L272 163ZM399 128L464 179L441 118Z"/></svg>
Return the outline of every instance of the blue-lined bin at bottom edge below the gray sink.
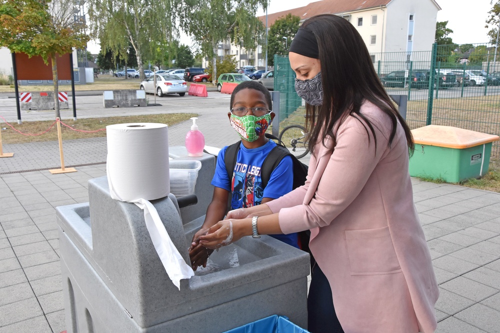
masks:
<svg viewBox="0 0 500 333"><path fill-rule="evenodd" d="M309 333L309 331L299 328L286 317L274 315L224 333Z"/></svg>

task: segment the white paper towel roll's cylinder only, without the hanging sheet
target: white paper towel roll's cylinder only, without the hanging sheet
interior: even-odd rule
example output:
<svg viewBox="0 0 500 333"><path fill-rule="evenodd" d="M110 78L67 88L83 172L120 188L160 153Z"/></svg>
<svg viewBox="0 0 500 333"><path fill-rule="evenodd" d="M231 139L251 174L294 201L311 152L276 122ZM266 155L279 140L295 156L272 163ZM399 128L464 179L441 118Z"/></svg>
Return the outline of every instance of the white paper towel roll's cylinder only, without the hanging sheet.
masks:
<svg viewBox="0 0 500 333"><path fill-rule="evenodd" d="M112 185L117 196L113 199L166 197L170 192L167 125L115 124L106 126L106 131L109 188Z"/></svg>

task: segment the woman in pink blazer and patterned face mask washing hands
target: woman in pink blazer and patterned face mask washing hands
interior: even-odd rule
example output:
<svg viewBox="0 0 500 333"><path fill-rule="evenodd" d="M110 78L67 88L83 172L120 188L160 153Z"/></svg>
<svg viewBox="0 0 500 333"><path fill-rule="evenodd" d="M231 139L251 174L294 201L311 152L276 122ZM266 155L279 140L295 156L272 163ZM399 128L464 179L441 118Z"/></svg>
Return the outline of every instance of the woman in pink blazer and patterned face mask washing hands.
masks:
<svg viewBox="0 0 500 333"><path fill-rule="evenodd" d="M307 19L289 52L306 101L312 156L304 186L238 209L199 238L218 248L243 236L310 229L316 260L308 330L430 333L437 284L408 174L411 133L345 19Z"/></svg>

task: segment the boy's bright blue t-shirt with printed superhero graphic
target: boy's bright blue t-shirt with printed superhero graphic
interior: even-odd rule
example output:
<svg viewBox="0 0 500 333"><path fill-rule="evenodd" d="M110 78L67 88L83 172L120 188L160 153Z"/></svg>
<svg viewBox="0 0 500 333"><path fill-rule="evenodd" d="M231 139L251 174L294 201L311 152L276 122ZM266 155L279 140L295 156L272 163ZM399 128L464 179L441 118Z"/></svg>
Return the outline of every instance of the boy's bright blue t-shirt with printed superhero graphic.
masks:
<svg viewBox="0 0 500 333"><path fill-rule="evenodd" d="M267 185L262 188L260 168L275 146L276 143L272 140L253 149L247 149L241 143L236 156L236 165L230 176L227 174L224 163L227 146L220 150L211 184L231 192L231 209L260 205L262 198L277 199L292 190L293 165L290 156L285 156L279 162L272 170ZM296 233L270 236L298 248Z"/></svg>

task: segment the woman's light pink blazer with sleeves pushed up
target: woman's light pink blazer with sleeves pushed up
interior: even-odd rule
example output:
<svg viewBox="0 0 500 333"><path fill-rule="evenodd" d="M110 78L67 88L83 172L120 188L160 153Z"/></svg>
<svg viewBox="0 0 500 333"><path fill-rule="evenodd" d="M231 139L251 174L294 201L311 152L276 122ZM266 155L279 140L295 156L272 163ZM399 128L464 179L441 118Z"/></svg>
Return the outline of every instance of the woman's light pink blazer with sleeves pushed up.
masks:
<svg viewBox="0 0 500 333"><path fill-rule="evenodd" d="M337 143L315 147L304 186L266 203L288 234L311 230L309 247L327 277L345 333L431 333L437 283L413 204L408 148L398 124L365 102L375 141L348 116Z"/></svg>

